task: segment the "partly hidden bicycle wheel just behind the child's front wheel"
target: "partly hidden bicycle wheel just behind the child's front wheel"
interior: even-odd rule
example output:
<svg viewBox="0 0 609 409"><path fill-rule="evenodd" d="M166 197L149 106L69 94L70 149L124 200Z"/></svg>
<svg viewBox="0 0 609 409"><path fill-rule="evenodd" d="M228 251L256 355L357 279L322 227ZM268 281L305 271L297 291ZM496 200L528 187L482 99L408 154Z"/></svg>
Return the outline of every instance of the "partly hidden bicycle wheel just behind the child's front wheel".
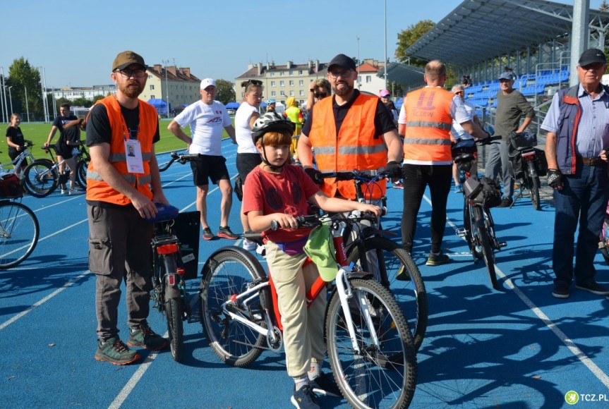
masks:
<svg viewBox="0 0 609 409"><path fill-rule="evenodd" d="M397 243L384 237L370 237L364 240L366 254L375 257L361 257L356 245L347 255L347 264L354 262L356 268L375 276L392 292L398 305L404 311L408 326L414 337L416 349L421 347L427 329L427 292L412 257ZM374 264L370 266L370 262Z"/></svg>

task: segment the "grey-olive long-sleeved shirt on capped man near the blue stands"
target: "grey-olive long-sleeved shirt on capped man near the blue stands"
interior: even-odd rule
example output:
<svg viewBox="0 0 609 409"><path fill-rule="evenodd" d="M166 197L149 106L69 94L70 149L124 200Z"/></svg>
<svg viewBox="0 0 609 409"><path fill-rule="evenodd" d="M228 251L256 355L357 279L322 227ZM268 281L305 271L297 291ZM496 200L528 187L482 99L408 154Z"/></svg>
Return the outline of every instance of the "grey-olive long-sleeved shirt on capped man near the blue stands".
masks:
<svg viewBox="0 0 609 409"><path fill-rule="evenodd" d="M521 92L512 90L507 95L504 95L502 91L497 92L495 135L501 135L502 140L509 140L507 135L518 129L522 116L535 118L535 111Z"/></svg>

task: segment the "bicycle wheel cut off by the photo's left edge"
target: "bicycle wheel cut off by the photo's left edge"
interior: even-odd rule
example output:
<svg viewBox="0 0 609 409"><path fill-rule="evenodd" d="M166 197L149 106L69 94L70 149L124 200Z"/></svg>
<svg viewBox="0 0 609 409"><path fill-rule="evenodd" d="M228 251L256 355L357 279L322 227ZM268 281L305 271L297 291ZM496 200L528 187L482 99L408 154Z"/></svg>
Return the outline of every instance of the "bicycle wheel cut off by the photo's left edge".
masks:
<svg viewBox="0 0 609 409"><path fill-rule="evenodd" d="M38 219L29 207L8 200L0 202L0 269L27 259L38 243Z"/></svg>

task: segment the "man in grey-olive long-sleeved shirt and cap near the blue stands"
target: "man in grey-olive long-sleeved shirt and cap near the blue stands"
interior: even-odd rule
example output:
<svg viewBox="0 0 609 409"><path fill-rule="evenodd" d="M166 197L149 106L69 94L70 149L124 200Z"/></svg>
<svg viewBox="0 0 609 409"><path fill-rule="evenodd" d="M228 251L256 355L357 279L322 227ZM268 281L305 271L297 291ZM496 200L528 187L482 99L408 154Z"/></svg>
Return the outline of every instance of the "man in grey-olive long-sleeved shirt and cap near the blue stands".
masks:
<svg viewBox="0 0 609 409"><path fill-rule="evenodd" d="M495 135L501 135L502 138L489 147L484 176L496 180L501 171L503 199L498 207L509 207L514 203L514 178L509 173L509 133L524 132L535 118L535 111L524 95L514 90L514 74L511 71L501 73L499 87L496 97ZM524 120L520 123L522 116Z"/></svg>

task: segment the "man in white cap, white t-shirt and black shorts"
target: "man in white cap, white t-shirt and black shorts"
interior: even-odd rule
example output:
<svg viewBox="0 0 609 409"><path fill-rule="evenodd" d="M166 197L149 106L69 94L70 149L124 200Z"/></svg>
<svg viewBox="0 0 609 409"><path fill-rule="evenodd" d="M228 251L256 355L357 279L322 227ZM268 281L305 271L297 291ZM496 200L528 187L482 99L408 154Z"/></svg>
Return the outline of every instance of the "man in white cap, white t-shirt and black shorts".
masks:
<svg viewBox="0 0 609 409"><path fill-rule="evenodd" d="M215 80L205 78L201 81L200 93L200 101L186 106L186 109L169 123L167 129L186 142L188 153L199 154L198 160L191 161L191 168L193 169L193 181L197 187L197 209L201 212L203 239L212 240L214 238L214 233L207 224L207 202L205 201L209 191L209 179L211 179L222 192L220 227L217 236L236 240L239 236L234 234L228 226L229 213L233 203L233 189L226 165L227 159L222 156L222 129L226 129L233 143L236 143L235 129L227 109L221 102L215 101ZM186 125L191 127L192 138L181 129Z"/></svg>

